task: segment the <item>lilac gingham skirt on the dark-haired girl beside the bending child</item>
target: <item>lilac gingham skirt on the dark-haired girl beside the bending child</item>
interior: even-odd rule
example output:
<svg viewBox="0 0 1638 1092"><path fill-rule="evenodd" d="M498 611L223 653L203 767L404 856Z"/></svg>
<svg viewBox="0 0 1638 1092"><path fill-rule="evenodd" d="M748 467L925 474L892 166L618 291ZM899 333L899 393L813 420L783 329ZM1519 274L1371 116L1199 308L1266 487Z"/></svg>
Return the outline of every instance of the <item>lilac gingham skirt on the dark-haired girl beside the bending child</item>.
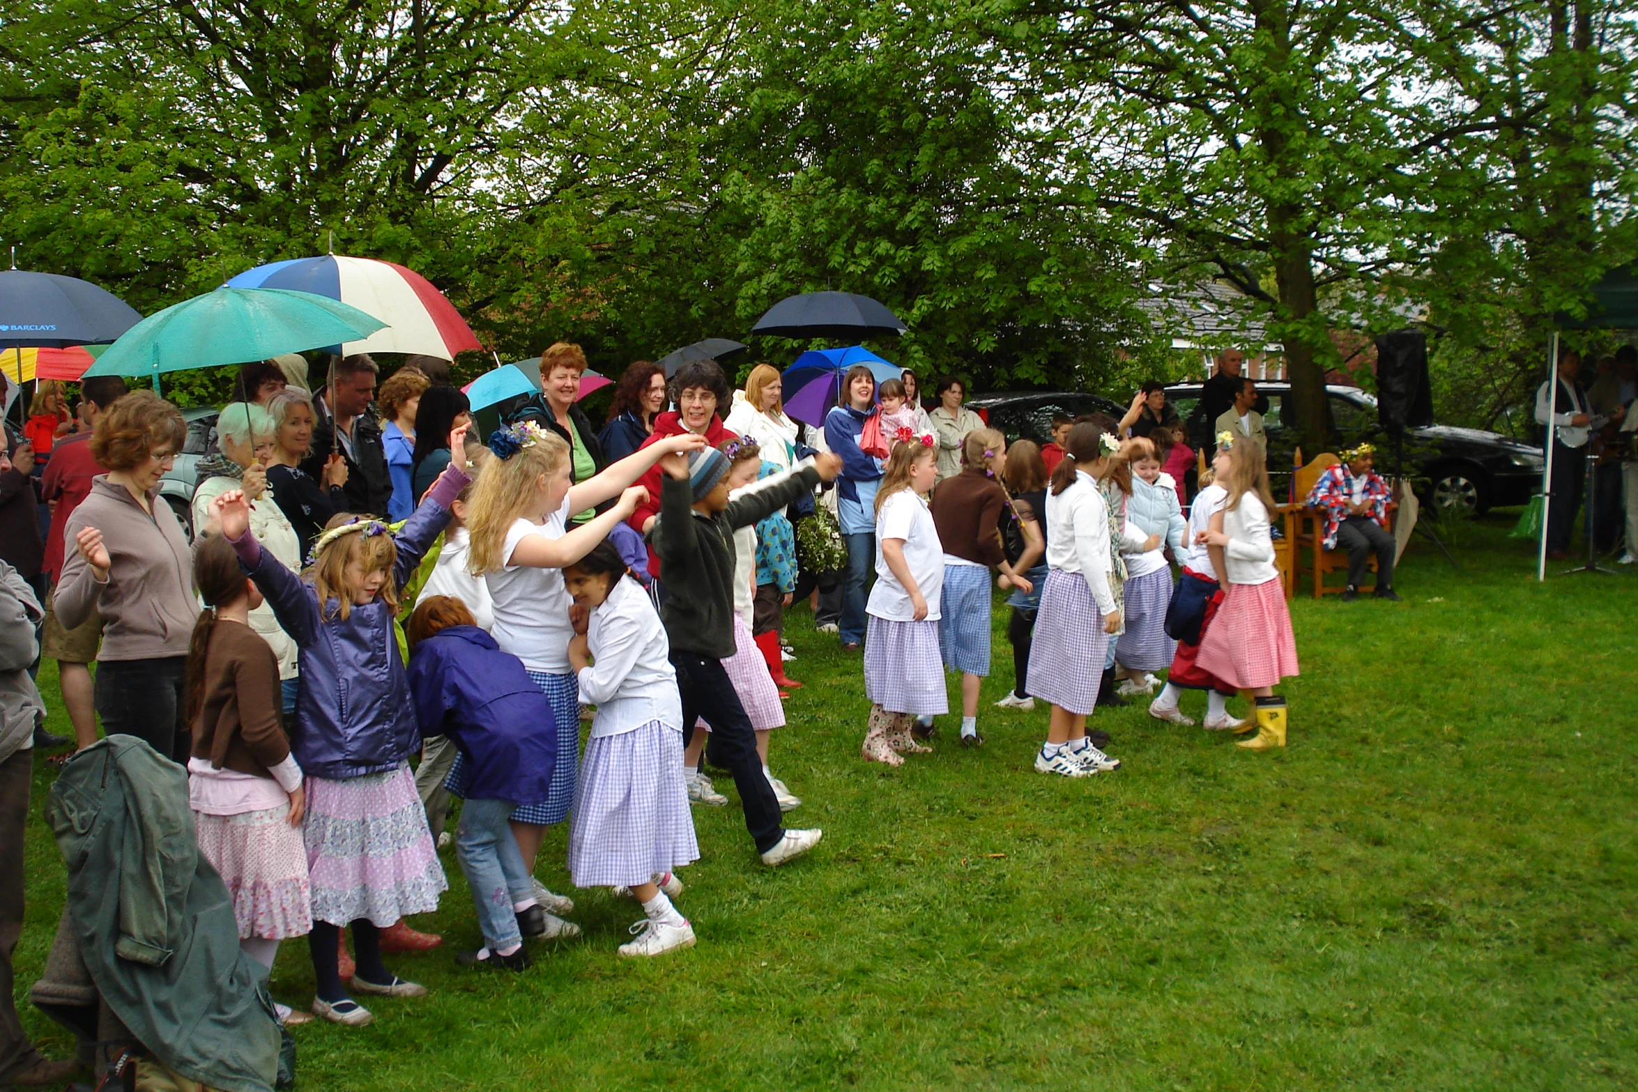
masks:
<svg viewBox="0 0 1638 1092"><path fill-rule="evenodd" d="M650 720L586 743L568 827L575 887L629 887L699 860L683 786L683 733Z"/></svg>

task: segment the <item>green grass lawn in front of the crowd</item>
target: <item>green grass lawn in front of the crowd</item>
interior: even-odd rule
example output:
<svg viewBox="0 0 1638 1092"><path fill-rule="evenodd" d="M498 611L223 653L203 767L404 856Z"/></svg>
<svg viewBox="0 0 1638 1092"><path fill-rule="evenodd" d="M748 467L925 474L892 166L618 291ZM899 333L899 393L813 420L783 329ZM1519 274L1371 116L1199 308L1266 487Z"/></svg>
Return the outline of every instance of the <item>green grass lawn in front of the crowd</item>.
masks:
<svg viewBox="0 0 1638 1092"><path fill-rule="evenodd" d="M1638 584L1536 584L1515 516L1466 526L1459 573L1414 545L1402 604L1292 602L1287 750L1133 706L1094 717L1124 768L1079 781L1030 769L1043 709L991 707L1004 609L988 745L943 719L901 769L860 760L860 658L796 612L808 686L773 768L808 801L790 820L826 830L809 858L763 869L719 778L734 802L695 809L683 874L696 948L622 961L640 912L575 891L586 935L488 977L450 961L478 933L446 851L414 922L446 946L390 961L431 997L298 1028L301 1087L1631 1089ZM66 1056L26 1005L64 897L49 786L36 760L18 1005ZM557 891L565 835L541 855ZM274 995L311 989L287 943Z"/></svg>

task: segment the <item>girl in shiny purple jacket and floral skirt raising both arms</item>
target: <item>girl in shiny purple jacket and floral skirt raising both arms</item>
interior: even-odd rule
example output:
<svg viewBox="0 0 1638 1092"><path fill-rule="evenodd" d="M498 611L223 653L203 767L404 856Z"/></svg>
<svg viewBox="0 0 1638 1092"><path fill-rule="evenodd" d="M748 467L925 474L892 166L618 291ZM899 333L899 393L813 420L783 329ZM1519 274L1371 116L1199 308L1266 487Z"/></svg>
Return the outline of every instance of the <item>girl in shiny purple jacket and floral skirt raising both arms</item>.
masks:
<svg viewBox="0 0 1638 1092"><path fill-rule="evenodd" d="M460 450L465 434L465 426L449 434L452 450ZM313 544L306 580L257 542L242 490L229 490L211 504L239 565L300 648L292 753L306 774L303 840L313 874L308 948L318 986L313 1012L349 1027L373 1018L347 995L337 972L341 930L349 923L355 992L426 994L395 977L380 948L382 928L436 910L449 886L410 771L421 725L393 614L400 589L449 524L467 481L457 465L444 470L396 535L375 519L333 519ZM370 845L398 846L391 869L377 868L377 858L365 851Z"/></svg>

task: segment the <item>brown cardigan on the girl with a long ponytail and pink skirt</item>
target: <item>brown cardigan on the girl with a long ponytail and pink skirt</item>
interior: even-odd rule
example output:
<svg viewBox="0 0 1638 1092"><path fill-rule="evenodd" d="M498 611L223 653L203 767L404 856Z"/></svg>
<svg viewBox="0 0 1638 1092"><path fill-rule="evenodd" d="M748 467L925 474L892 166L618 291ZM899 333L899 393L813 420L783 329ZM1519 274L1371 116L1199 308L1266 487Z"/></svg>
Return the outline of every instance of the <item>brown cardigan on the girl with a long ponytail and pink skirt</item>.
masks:
<svg viewBox="0 0 1638 1092"><path fill-rule="evenodd" d="M278 719L278 660L254 629L218 620L205 652L205 704L193 717L193 758L216 769L272 778L290 756Z"/></svg>

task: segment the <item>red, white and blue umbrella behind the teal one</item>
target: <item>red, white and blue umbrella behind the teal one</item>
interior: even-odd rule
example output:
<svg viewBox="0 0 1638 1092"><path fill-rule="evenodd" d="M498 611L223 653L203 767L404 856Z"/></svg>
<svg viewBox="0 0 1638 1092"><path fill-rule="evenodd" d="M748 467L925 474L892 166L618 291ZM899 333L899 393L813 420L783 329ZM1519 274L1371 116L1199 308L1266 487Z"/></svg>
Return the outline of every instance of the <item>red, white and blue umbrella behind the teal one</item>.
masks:
<svg viewBox="0 0 1638 1092"><path fill-rule="evenodd" d="M387 323L364 341L341 345L355 352L408 352L454 360L464 349L482 349L455 305L411 268L369 257L298 257L239 273L229 288L293 288L339 300Z"/></svg>

